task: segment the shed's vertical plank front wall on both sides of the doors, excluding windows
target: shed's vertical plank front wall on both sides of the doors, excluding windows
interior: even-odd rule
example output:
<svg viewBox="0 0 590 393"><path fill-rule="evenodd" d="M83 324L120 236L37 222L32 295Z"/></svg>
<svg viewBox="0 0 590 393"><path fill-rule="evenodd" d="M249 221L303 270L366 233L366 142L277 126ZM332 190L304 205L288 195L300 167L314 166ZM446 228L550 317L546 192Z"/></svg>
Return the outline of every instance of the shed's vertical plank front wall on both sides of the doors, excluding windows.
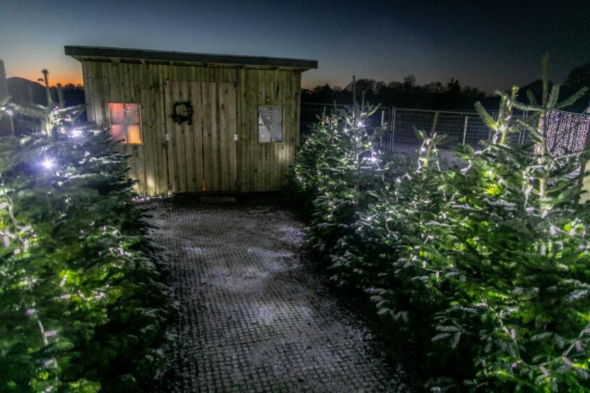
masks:
<svg viewBox="0 0 590 393"><path fill-rule="evenodd" d="M82 73L89 121L101 128L109 127L109 102L142 106L144 144L119 146L130 155L129 176L138 180L137 192L168 190L163 81L236 84L238 190L280 190L285 183L299 139L301 72L82 61ZM259 105L285 107L282 142L259 144Z"/></svg>

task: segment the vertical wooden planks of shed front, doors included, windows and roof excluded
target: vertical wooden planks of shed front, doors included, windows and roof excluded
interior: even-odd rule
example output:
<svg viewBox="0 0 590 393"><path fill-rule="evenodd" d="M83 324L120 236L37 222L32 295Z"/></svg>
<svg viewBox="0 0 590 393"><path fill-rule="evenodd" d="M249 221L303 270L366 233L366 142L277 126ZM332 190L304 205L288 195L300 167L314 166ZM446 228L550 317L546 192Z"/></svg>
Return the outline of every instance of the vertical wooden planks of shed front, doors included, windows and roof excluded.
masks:
<svg viewBox="0 0 590 393"><path fill-rule="evenodd" d="M202 190L202 179L208 176L218 189L239 192L274 191L284 185L299 139L301 72L83 60L82 73L88 118L100 128L109 127L109 102L141 104L143 144L119 145L121 153L129 155L128 176L137 180L137 192L166 194L169 183L173 192ZM165 82L169 88L177 86L172 95L165 93ZM227 88L235 88L235 95L227 94ZM197 103L197 97L203 97L202 102ZM209 98L215 102L208 102ZM233 134L212 133L215 139L211 151L205 151L204 173L190 164L202 155L201 135L194 126L190 131L188 125L176 125L169 118L176 100L192 102L195 124L221 124L238 135L235 142ZM259 143L258 109L262 105L283 107L282 142ZM228 115L220 110L226 107L235 110ZM210 121L211 116L217 121ZM183 140L166 141L166 133L172 130L183 135ZM234 155L220 153L232 148ZM213 156L222 157L223 164ZM222 173L222 167L229 167L229 176ZM236 185L230 184L232 178Z"/></svg>

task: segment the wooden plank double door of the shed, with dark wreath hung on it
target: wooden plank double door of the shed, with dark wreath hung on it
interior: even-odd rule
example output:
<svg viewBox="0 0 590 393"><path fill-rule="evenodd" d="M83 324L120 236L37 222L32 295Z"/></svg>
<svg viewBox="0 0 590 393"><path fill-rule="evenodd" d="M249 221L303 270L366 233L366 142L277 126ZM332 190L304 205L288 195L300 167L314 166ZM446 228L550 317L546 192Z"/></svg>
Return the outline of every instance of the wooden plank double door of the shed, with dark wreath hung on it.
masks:
<svg viewBox="0 0 590 393"><path fill-rule="evenodd" d="M168 82L164 95L172 192L236 190L234 84ZM186 101L192 105L192 124L176 124L170 118L174 104Z"/></svg>

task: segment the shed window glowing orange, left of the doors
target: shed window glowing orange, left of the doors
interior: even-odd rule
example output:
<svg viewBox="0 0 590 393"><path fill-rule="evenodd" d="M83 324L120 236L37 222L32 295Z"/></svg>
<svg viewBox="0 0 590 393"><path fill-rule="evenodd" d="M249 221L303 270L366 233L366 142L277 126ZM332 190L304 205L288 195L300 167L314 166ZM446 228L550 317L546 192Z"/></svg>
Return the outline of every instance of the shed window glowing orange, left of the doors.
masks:
<svg viewBox="0 0 590 393"><path fill-rule="evenodd" d="M139 104L109 102L111 131L114 141L121 144L142 144L142 116Z"/></svg>

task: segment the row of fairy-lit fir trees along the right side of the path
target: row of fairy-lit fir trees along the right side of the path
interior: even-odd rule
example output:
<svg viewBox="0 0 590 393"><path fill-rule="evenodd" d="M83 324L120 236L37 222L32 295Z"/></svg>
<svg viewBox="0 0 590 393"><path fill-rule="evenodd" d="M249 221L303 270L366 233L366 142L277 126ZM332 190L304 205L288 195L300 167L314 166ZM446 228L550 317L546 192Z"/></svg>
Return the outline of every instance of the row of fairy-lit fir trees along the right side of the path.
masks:
<svg viewBox="0 0 590 393"><path fill-rule="evenodd" d="M550 125L554 110L585 89L558 102L547 74L545 59L540 100L528 93L528 104L517 102L513 88L499 92L497 117L476 105L491 138L478 150L457 148L465 167L439 169L444 137L436 125L418 132L416 164L377 149L378 165L355 181L344 175L356 170L342 160L349 139L331 138L325 127L299 155L294 186L321 202L312 205L313 244L332 262L335 282L367 293L391 336L404 332L425 354L421 370L432 389L588 385L590 209L579 203L580 153L555 144ZM513 109L531 116L515 121ZM510 144L524 131L532 144ZM348 210L338 215L333 206Z"/></svg>

